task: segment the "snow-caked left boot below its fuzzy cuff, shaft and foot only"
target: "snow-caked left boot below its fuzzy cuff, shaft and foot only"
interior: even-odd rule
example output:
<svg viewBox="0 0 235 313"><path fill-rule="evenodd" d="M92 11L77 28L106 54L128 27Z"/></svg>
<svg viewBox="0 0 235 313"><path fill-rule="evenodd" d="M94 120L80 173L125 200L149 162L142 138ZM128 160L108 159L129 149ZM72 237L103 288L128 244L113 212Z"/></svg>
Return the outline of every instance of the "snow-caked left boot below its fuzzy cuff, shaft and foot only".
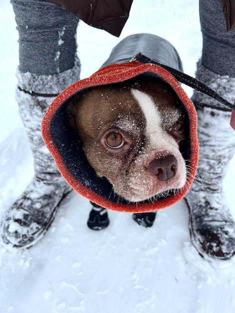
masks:
<svg viewBox="0 0 235 313"><path fill-rule="evenodd" d="M40 134L40 121L51 97L18 91L20 113L34 157L35 175L23 194L6 210L1 223L2 243L10 248L34 244L50 225L58 203L70 187L58 173Z"/></svg>

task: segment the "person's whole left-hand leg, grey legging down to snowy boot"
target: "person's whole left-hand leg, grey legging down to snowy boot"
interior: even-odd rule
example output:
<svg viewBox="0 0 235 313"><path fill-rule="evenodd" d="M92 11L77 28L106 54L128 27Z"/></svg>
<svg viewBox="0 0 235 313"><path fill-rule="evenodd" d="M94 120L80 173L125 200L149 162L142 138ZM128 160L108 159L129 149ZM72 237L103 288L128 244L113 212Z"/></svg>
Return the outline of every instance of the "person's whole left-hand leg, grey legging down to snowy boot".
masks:
<svg viewBox="0 0 235 313"><path fill-rule="evenodd" d="M42 237L70 187L60 176L40 133L55 95L79 79L78 19L43 0L12 0L19 32L16 99L34 157L35 175L1 221L2 243L28 247Z"/></svg>

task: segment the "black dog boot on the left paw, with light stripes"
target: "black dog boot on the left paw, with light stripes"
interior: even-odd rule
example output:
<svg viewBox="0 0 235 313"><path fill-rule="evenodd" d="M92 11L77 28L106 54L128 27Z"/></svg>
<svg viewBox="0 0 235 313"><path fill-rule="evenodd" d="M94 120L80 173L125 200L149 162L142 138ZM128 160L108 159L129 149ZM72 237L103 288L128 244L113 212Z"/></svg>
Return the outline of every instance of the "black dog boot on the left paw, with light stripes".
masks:
<svg viewBox="0 0 235 313"><path fill-rule="evenodd" d="M90 203L92 204L92 209L89 213L87 226L93 230L101 230L103 228L106 228L109 224L107 209L91 201Z"/></svg>

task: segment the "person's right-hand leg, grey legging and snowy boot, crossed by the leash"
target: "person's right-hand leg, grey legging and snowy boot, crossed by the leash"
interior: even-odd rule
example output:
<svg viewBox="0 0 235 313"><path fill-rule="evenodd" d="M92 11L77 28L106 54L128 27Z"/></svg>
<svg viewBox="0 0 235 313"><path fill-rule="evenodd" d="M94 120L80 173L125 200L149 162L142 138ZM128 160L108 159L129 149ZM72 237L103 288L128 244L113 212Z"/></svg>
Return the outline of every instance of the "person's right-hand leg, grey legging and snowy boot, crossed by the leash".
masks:
<svg viewBox="0 0 235 313"><path fill-rule="evenodd" d="M203 36L196 77L233 103L235 99L235 31L226 32L218 0L200 0ZM235 223L222 191L222 180L235 150L231 111L195 91L198 114L199 179L186 194L194 246L204 257L228 259L235 253Z"/></svg>

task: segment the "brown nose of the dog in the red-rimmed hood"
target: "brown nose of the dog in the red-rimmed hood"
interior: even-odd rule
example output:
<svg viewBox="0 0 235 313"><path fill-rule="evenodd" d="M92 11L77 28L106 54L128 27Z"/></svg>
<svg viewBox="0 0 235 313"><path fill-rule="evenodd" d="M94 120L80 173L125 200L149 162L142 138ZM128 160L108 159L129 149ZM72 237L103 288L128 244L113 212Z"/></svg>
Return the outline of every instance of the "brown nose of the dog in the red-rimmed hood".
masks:
<svg viewBox="0 0 235 313"><path fill-rule="evenodd" d="M168 180L176 173L178 162L174 155L169 154L152 160L148 171L156 175L159 180Z"/></svg>

